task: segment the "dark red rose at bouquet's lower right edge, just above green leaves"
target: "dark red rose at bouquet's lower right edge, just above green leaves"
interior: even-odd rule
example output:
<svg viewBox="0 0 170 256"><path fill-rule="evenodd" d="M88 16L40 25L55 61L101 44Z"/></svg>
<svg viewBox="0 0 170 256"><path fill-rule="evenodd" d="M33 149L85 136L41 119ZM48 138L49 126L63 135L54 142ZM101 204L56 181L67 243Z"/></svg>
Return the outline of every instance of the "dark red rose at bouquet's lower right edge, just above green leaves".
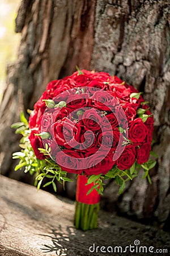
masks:
<svg viewBox="0 0 170 256"><path fill-rule="evenodd" d="M137 148L137 163L143 164L147 162L151 151L151 144L150 143L144 143L140 148Z"/></svg>

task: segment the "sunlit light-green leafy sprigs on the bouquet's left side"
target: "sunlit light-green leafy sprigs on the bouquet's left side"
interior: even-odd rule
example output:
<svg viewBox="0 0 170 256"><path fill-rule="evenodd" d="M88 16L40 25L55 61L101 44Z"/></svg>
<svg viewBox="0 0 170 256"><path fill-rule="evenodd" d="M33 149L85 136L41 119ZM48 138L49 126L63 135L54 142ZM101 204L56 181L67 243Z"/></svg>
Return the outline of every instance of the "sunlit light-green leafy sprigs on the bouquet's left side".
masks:
<svg viewBox="0 0 170 256"><path fill-rule="evenodd" d="M44 178L50 179L50 181L45 183L43 187L52 184L55 192L57 191L56 181L61 183L63 187L65 185L65 181L73 181L67 177L67 172L62 171L61 167L59 167L56 162L50 158L50 148L48 148L48 144L45 144L45 148L39 148L40 152L46 156L46 159L40 160L36 158L28 139L30 134L28 121L24 117L23 113L20 115L20 120L21 122L11 125L12 128L16 129L15 133L23 135L19 144L21 151L12 154L13 159L19 159L19 163L16 165L15 171L22 170L24 168L25 173L29 172L30 175L35 175L35 185L37 185L37 189L40 189Z"/></svg>

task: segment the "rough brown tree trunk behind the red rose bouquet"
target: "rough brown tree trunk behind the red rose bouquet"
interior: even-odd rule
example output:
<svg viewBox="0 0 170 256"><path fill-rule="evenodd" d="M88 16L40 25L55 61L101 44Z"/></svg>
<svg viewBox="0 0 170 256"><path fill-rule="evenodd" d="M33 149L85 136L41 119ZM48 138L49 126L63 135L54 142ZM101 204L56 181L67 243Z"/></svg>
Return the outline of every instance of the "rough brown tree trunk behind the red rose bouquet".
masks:
<svg viewBox="0 0 170 256"><path fill-rule="evenodd" d="M141 180L141 172L118 196L112 181L101 205L166 224L170 212L169 7L163 0L23 0L16 18L16 32L22 33L18 61L8 67L1 104L2 174L24 179L25 174L16 176L11 168L18 138L9 126L18 121L20 110L33 108L50 80L71 75L75 65L109 72L145 92L155 117L154 151L159 160L151 171L152 185ZM73 195L72 189L67 187L68 195Z"/></svg>

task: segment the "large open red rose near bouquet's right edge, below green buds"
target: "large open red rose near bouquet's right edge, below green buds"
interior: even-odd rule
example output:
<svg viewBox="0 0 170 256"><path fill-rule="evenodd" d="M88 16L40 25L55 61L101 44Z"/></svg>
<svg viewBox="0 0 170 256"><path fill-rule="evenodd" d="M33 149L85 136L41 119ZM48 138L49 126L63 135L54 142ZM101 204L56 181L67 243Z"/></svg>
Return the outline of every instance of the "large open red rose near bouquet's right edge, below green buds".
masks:
<svg viewBox="0 0 170 256"><path fill-rule="evenodd" d="M141 118L137 118L134 119L134 121L129 122L128 137L134 144L138 145L145 142L147 133L147 127Z"/></svg>

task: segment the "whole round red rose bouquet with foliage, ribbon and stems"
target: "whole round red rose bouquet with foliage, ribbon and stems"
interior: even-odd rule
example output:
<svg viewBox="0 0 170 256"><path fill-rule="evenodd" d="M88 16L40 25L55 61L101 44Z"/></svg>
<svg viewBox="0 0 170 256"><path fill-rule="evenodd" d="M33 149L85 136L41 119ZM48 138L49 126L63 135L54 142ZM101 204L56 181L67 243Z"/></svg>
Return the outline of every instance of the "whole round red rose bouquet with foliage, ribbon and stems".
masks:
<svg viewBox="0 0 170 256"><path fill-rule="evenodd" d="M104 180L115 179L120 193L126 181L156 164L149 159L154 117L142 93L116 76L80 71L49 82L29 112L29 121L12 125L23 135L15 170L35 174L39 189L76 174L76 228L97 227ZM153 153L154 154L154 153ZM47 178L48 182L44 182Z"/></svg>

